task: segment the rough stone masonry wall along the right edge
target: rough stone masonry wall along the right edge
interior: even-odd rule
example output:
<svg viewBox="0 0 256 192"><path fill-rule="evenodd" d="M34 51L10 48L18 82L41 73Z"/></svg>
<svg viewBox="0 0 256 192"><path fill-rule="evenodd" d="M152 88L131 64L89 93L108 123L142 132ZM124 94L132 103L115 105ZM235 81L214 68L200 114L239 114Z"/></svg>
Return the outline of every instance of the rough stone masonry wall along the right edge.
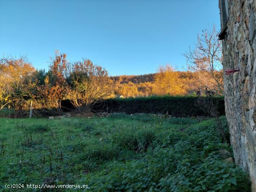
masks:
<svg viewBox="0 0 256 192"><path fill-rule="evenodd" d="M225 111L236 164L256 192L256 0L219 0Z"/></svg>

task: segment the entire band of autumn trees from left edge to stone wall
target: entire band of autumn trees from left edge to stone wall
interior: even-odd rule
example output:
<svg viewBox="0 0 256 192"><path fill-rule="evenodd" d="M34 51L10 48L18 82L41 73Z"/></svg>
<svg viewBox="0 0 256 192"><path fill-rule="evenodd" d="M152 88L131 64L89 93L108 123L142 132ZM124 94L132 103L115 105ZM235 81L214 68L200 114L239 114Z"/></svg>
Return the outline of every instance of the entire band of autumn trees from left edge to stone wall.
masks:
<svg viewBox="0 0 256 192"><path fill-rule="evenodd" d="M0 110L12 108L22 116L33 101L34 109L62 113L63 99L76 110L90 112L103 99L152 95L201 95L206 89L222 95L222 53L215 27L202 31L195 49L184 56L188 71L160 66L157 73L109 77L108 71L91 60L69 62L66 53L55 53L47 71L35 69L27 58L0 59Z"/></svg>

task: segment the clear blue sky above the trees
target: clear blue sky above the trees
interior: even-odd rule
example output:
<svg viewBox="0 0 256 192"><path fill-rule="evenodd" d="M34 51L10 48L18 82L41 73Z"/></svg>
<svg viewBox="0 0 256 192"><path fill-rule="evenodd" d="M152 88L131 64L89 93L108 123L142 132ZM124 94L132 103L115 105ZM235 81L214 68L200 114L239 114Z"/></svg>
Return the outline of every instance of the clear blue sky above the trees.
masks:
<svg viewBox="0 0 256 192"><path fill-rule="evenodd" d="M213 23L218 30L218 0L0 0L0 56L47 69L59 50L110 75L182 70L182 53Z"/></svg>

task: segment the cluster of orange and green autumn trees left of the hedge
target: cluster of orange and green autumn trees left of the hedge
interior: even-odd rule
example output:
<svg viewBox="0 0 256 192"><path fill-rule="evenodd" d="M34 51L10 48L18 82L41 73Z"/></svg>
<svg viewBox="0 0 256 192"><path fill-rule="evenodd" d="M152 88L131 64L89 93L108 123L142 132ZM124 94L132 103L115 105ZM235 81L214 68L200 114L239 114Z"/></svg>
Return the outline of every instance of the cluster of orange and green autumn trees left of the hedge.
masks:
<svg viewBox="0 0 256 192"><path fill-rule="evenodd" d="M89 111L113 93L108 72L91 60L68 62L65 53L56 53L48 71L36 70L27 59L0 60L0 109L11 107L15 116L29 109L52 110L61 114L61 102L69 99L77 110Z"/></svg>

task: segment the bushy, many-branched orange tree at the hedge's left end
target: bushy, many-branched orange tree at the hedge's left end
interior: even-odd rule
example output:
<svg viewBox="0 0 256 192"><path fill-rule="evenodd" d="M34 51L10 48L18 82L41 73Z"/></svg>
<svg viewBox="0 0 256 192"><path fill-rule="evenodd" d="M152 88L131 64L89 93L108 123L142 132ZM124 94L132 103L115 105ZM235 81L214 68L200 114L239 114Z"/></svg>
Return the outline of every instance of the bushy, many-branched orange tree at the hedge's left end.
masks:
<svg viewBox="0 0 256 192"><path fill-rule="evenodd" d="M92 107L112 93L112 81L108 72L91 60L70 64L68 98L80 112L91 112Z"/></svg>

